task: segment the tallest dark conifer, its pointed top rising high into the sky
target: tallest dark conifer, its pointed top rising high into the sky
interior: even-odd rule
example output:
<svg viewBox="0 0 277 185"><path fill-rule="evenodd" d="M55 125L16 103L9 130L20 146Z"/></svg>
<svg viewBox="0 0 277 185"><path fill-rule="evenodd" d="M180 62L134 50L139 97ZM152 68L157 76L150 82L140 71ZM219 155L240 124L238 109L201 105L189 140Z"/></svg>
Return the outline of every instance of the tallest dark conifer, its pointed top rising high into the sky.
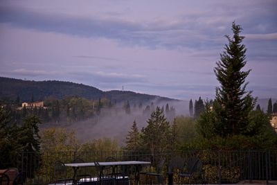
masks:
<svg viewBox="0 0 277 185"><path fill-rule="evenodd" d="M245 52L247 49L240 36L241 26L232 24L233 37L226 35L229 44L226 44L225 51L220 54L220 61L215 67L215 76L220 82L220 87L216 88L215 114L217 122L222 130L220 134L233 135L244 132L249 123L249 113L256 103L251 97L251 91L247 91L248 82L245 79L251 70L242 71L247 64Z"/></svg>

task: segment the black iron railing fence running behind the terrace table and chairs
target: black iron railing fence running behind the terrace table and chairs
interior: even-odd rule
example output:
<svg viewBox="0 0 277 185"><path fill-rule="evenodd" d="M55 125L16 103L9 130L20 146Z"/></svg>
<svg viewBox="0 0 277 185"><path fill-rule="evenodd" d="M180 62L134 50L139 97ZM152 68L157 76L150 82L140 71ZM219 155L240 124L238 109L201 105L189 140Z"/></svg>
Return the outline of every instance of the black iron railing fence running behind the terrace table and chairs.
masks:
<svg viewBox="0 0 277 185"><path fill-rule="evenodd" d="M163 158L166 159L163 168L163 173L166 175L169 161L175 156L182 157L184 161L190 157L199 157L203 162L208 184L236 183L242 180L249 182L277 180L277 150L188 150L154 155L141 151L22 152L15 159L15 167L26 174L26 184L48 184L53 181L53 164L57 160L70 163L75 157L82 158L84 161L105 161L107 157L114 157L118 161L152 161L154 168ZM72 175L73 170L71 168L68 170L68 175ZM94 168L86 168L86 170L88 173L95 173ZM177 183L177 179L174 178L174 180Z"/></svg>

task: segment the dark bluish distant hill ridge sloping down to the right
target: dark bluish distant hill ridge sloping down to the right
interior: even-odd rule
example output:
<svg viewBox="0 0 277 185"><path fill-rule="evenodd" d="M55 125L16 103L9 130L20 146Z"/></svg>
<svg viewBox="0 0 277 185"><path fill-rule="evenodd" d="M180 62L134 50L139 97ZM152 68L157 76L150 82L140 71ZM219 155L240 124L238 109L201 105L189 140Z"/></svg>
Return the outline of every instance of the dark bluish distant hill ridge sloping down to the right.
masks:
<svg viewBox="0 0 277 185"><path fill-rule="evenodd" d="M49 96L57 99L62 99L65 96L80 96L87 99L109 98L117 103L126 100L129 100L130 103L175 100L161 96L139 94L133 91L101 91L96 87L73 82L57 80L31 81L0 77L0 98L16 100L17 96L19 96L21 101L30 101L32 94L34 100L44 100Z"/></svg>

